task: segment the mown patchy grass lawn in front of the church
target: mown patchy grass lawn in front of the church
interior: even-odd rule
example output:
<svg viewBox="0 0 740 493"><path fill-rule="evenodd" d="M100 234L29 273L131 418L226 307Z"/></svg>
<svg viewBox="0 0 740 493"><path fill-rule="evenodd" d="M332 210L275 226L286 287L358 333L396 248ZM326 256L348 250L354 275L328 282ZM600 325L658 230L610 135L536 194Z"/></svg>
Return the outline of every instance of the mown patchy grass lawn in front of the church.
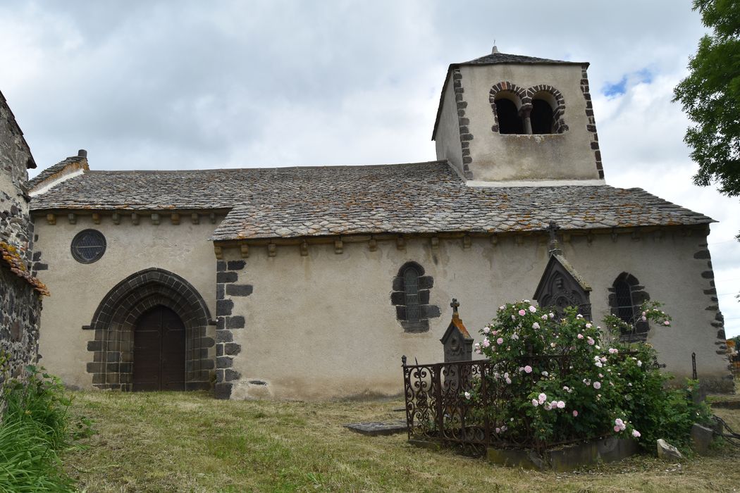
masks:
<svg viewBox="0 0 740 493"><path fill-rule="evenodd" d="M665 463L649 456L579 472L523 472L357 421L404 418L403 401L216 401L198 392L73 392L96 435L64 456L87 492L675 492L740 489L740 449ZM740 430L740 411L716 414Z"/></svg>

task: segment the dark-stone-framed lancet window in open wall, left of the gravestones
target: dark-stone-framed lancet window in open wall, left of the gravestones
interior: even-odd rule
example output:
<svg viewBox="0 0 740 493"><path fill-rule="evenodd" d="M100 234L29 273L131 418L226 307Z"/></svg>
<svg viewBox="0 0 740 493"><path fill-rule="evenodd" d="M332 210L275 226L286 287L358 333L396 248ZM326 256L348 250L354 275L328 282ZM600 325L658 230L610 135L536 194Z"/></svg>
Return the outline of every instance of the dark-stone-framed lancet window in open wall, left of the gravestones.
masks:
<svg viewBox="0 0 740 493"><path fill-rule="evenodd" d="M406 262L393 278L391 303L396 307L396 319L406 332L426 332L429 319L440 316L440 307L429 304L429 291L434 285L431 276L417 262Z"/></svg>

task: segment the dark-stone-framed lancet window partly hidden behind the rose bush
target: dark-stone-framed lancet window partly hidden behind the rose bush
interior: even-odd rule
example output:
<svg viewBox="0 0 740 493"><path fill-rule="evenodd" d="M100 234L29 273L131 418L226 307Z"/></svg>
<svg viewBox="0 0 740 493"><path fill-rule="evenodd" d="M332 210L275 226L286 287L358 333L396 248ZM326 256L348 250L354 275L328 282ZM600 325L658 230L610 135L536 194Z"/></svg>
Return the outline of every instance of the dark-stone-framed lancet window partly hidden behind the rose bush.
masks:
<svg viewBox="0 0 740 493"><path fill-rule="evenodd" d="M609 307L612 315L630 324L631 330L622 333L627 342L645 341L650 324L642 320L640 307L650 299L645 286L640 285L635 276L622 272L609 288Z"/></svg>

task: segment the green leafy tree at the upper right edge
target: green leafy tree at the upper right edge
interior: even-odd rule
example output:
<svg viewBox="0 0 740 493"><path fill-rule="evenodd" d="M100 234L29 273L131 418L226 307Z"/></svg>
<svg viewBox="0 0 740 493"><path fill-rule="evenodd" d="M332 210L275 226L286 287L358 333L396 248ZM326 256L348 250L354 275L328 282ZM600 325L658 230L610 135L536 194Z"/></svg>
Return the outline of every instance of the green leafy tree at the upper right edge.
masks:
<svg viewBox="0 0 740 493"><path fill-rule="evenodd" d="M740 195L740 1L694 0L693 10L711 33L699 41L691 73L673 90L673 101L696 123L684 137L699 164L694 183L717 183L722 194L735 197Z"/></svg>

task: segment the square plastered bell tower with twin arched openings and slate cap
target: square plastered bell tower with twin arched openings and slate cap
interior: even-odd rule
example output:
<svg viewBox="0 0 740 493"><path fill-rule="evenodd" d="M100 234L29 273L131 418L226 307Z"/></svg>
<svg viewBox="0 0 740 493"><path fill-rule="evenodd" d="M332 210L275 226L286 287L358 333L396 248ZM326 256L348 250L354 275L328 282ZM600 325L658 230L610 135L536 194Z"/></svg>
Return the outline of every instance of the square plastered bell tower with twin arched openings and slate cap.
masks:
<svg viewBox="0 0 740 493"><path fill-rule="evenodd" d="M501 53L451 64L432 140L471 186L604 183L588 63Z"/></svg>

